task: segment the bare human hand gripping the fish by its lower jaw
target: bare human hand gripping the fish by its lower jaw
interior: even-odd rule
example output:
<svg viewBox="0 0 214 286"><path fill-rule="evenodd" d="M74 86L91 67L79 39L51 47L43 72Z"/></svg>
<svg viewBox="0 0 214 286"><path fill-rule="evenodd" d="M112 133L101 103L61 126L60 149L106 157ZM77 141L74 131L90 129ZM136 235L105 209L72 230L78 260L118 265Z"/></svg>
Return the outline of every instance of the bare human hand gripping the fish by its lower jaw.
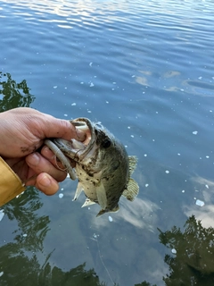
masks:
<svg viewBox="0 0 214 286"><path fill-rule="evenodd" d="M0 156L27 186L36 186L46 195L53 195L67 172L59 170L55 156L42 147L46 138L85 139L70 122L42 114L28 107L15 108L0 114Z"/></svg>

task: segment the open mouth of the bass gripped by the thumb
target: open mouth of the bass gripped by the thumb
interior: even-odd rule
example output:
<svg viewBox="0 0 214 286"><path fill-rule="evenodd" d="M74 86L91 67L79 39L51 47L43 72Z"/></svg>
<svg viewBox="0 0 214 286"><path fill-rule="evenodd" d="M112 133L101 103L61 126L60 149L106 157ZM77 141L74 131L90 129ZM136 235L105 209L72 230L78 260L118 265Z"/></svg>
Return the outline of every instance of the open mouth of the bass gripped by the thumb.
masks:
<svg viewBox="0 0 214 286"><path fill-rule="evenodd" d="M85 117L71 120L70 123L74 125L76 129L85 131L86 139L83 142L76 139L70 139L70 141L65 139L53 139L53 143L62 150L65 156L79 162L93 152L96 141L95 124Z"/></svg>

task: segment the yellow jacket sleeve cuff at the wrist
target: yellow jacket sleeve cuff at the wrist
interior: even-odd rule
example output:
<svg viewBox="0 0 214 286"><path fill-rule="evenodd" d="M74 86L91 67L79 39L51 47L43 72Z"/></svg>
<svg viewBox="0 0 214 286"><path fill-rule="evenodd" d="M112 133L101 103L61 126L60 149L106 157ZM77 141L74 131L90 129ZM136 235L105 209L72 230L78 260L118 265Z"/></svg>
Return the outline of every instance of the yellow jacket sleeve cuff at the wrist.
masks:
<svg viewBox="0 0 214 286"><path fill-rule="evenodd" d="M0 174L0 206L3 206L26 188L2 157L0 157Z"/></svg>

